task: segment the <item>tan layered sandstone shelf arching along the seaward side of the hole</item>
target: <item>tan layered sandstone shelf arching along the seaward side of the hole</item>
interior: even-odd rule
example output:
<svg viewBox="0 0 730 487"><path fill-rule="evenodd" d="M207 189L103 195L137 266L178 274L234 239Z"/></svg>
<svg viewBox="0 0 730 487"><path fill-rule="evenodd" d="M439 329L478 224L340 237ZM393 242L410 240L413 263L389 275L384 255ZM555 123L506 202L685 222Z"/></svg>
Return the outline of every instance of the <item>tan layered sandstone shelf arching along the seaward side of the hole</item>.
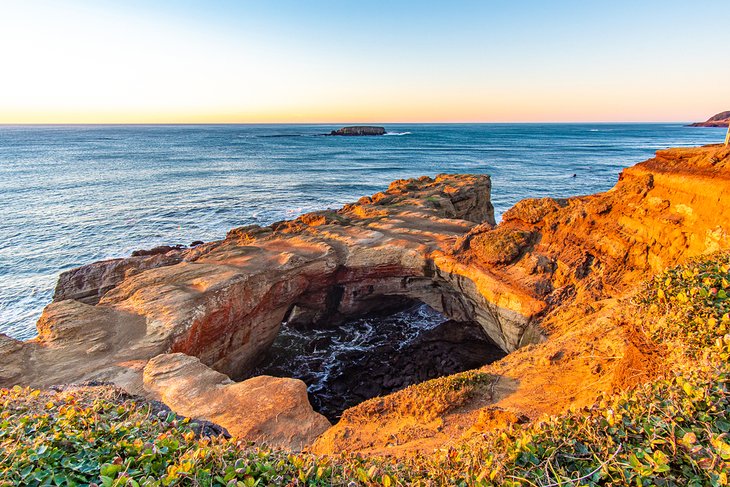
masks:
<svg viewBox="0 0 730 487"><path fill-rule="evenodd" d="M284 319L336 323L404 298L456 319L473 318L513 350L523 335L537 336L527 333L531 317L509 308L479 312L484 298L477 288L453 287L430 258L476 223L494 224L489 193L487 176L396 181L339 211L234 229L225 240L187 250L76 269L59 280L37 339L0 338L2 385L94 379L149 393L143 369L171 352L239 378ZM502 312L506 324L498 325Z"/></svg>

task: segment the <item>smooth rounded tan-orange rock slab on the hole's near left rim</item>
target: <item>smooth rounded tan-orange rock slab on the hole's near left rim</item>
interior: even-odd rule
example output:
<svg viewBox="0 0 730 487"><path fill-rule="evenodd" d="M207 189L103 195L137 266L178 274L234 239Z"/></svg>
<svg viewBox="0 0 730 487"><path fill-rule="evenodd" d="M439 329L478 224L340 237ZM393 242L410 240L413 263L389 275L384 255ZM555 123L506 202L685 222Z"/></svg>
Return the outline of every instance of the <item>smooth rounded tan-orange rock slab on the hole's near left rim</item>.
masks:
<svg viewBox="0 0 730 487"><path fill-rule="evenodd" d="M312 410L296 379L233 382L195 357L158 355L144 368L145 390L183 416L206 418L238 438L301 450L331 425Z"/></svg>

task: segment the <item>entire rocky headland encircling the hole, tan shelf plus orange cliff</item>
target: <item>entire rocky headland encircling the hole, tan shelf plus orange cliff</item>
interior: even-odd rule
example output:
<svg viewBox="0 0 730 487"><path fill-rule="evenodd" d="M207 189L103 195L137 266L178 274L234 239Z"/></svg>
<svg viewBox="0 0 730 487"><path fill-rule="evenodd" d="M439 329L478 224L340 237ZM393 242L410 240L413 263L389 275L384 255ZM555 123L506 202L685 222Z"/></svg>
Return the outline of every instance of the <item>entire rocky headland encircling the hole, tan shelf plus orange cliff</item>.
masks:
<svg viewBox="0 0 730 487"><path fill-rule="evenodd" d="M234 436L318 453L432 451L586 406L662 369L662 345L625 300L667 266L730 247L729 166L720 146L659 151L606 193L523 200L499 225L487 176L401 180L337 211L83 266L59 279L38 338L0 336L0 386L111 382ZM240 380L282 322L332 326L404 300L478 324L507 353L457 406L424 416L406 388L331 426L301 381Z"/></svg>

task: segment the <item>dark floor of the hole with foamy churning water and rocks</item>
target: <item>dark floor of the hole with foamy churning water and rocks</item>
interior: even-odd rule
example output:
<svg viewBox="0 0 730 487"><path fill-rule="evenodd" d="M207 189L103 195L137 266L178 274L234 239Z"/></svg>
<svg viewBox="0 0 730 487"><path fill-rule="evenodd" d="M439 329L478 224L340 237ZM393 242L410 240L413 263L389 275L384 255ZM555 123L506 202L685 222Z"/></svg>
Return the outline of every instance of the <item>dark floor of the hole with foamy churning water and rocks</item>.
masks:
<svg viewBox="0 0 730 487"><path fill-rule="evenodd" d="M409 300L395 313L388 308L339 325L285 322L249 376L301 379L314 409L336 422L372 397L505 355L477 323L449 320Z"/></svg>

